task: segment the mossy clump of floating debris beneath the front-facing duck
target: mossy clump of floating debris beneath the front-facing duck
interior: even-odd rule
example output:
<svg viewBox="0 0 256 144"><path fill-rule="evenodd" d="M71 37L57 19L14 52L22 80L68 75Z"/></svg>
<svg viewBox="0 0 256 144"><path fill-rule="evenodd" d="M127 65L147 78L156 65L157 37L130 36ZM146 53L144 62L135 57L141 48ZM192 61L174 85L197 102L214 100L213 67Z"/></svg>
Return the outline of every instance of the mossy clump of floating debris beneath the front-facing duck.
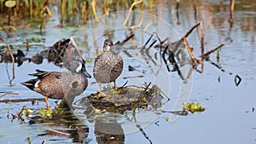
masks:
<svg viewBox="0 0 256 144"><path fill-rule="evenodd" d="M119 89L104 90L101 93L84 97L81 104L83 106L89 101L94 108L107 112L125 112L136 108L146 108L150 104L160 106L163 98L157 95L160 89L156 86L148 89L148 86L146 88L125 86Z"/></svg>

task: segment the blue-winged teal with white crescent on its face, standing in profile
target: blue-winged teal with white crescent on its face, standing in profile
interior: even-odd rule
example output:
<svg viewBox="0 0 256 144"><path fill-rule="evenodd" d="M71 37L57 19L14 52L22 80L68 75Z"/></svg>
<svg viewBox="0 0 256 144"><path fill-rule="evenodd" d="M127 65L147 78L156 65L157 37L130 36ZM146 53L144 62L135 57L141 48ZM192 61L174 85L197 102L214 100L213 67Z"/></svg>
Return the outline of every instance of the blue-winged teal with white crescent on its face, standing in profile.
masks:
<svg viewBox="0 0 256 144"><path fill-rule="evenodd" d="M69 67L71 72L44 72L36 70L37 73L29 75L38 77L28 80L24 83L27 88L45 96L47 107L49 107L48 98L62 99L69 89L75 89L72 94L67 96L80 95L87 88L90 74L86 72L85 61L74 60L73 65Z"/></svg>

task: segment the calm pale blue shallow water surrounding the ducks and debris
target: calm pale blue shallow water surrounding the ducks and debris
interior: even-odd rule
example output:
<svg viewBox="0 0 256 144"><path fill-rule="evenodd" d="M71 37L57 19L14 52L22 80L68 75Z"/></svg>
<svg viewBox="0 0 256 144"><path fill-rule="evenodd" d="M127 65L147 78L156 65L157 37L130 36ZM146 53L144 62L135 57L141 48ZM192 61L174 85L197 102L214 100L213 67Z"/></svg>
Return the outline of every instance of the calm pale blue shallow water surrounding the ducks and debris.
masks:
<svg viewBox="0 0 256 144"><path fill-rule="evenodd" d="M125 48L132 58L121 53L125 59L125 69L117 81L118 85L125 84L127 79L123 77L136 76L142 72L128 72L128 65L141 67L139 70L146 71L144 78L128 79L128 84L143 85L144 82L157 84L171 101L164 103L159 110L138 111L137 123L125 118L132 118L131 113L128 116L119 115L118 120L110 117L109 124L116 127L114 129L122 131L121 135L115 137L120 143L254 143L255 137L255 89L254 76L256 75L255 55L255 33L256 33L256 11L253 1L236 1L235 18L230 23L229 1L197 1L196 15L193 3L190 1L181 1L176 13L176 3L162 2L157 9L158 17L154 14L134 12L134 21L137 25L143 16L143 24L132 32L135 33ZM148 10L149 12L149 10ZM125 12L127 14L127 12ZM121 41L125 35L129 34L123 26L125 20L124 12L113 13L110 16L102 16L101 22L97 25L94 21L87 26L55 28L58 22L58 15L55 13L46 24L43 34L36 28L19 29L23 37L6 38L1 31L1 36L5 45L10 43L15 49L26 50L25 40L31 40L31 49L26 52L26 57L31 57L39 53L44 47L50 46L61 38L67 38L71 35L75 38L80 49L85 51L84 59L87 61L88 72L92 73L93 60L96 57L96 50L102 50L102 43L106 38L112 38L114 42ZM202 21L205 37L205 51L218 47L224 43L224 47L219 51L219 60L217 53L212 53L210 60L221 66L225 72L222 72L210 61L204 61L203 72L193 71L191 76L183 81L177 72L168 72L163 60L160 59L159 49L151 48L149 56L140 53L140 48L148 40L150 33L157 32L163 40L170 37L171 41L176 41L182 37L189 28L196 22ZM18 25L18 24L17 24ZM130 24L129 24L130 25ZM146 31L143 31L148 27ZM103 33L111 32L103 36ZM195 56L201 55L201 45L199 31L192 32L189 35L189 45L194 48ZM34 42L32 37L41 41ZM94 41L96 40L96 43ZM152 41L151 41L152 42ZM135 48L133 48L135 47ZM156 53L156 54L155 54ZM155 56L157 55L157 59ZM189 58L189 55L186 55ZM184 61L187 62L187 61ZM181 63L181 62L180 62ZM179 64L180 64L179 63ZM168 64L172 69L172 65ZM42 97L20 84L32 77L27 74L35 72L35 69L45 71L66 71L52 63L44 60L43 64L36 65L25 61L21 66L15 63L15 79L12 85L9 84L9 77L12 77L11 64L0 63L2 77L0 78L0 91L13 91L19 95L5 95L3 98L32 98ZM7 67L7 68L6 68ZM186 78L189 75L191 66L181 67L181 72ZM201 66L197 67L201 71ZM7 72L8 70L8 72ZM236 86L234 78L238 74L242 80L239 86ZM218 81L219 78L219 81ZM84 91L85 95L90 95L97 91L97 85L91 84L93 78L89 79L89 86ZM185 82L185 83L184 83ZM171 113L160 112L181 110L182 102L194 101L200 102L201 106L206 107L205 112L189 113L187 116L175 116ZM54 107L55 100L50 100L50 105ZM28 143L26 137L32 138L32 143L101 143L109 135L96 133L97 126L101 126L102 121L90 121L84 118L81 112L74 113L73 118L60 118L57 120L44 122L41 124L29 124L32 118L26 118L27 124L20 124L15 119L12 121L11 113L17 113L22 106L31 107L32 110L39 111L45 107L44 101L38 101L34 105L31 102L20 103L0 103L0 141L2 143ZM9 112L9 113L8 113ZM7 115L9 114L9 118ZM76 118L79 118L76 119ZM113 119L111 119L113 118ZM168 118L168 121L166 121ZM60 120L60 121L58 121ZM111 121L112 120L112 121ZM81 123L82 122L82 123ZM89 128L89 131L83 132L82 140L67 136L46 135L47 130L71 129L73 125L82 125ZM104 125L104 123L103 123ZM108 127L108 124L106 124ZM140 125L142 129L139 129ZM110 127L110 126L109 126ZM122 128L120 128L122 127ZM131 129L129 129L131 128ZM144 132L144 133L143 133ZM123 134L124 133L124 134ZM111 138L111 136L110 136ZM112 137L113 138L113 137Z"/></svg>

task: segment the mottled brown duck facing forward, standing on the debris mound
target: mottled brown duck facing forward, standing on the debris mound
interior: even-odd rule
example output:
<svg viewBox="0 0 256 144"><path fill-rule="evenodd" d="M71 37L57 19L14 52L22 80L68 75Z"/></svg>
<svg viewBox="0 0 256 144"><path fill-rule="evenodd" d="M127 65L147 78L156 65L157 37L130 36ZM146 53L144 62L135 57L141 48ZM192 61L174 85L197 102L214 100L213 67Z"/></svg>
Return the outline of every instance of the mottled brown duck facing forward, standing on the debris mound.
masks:
<svg viewBox="0 0 256 144"><path fill-rule="evenodd" d="M110 39L104 41L103 53L98 55L95 60L93 75L96 82L99 83L101 91L101 83L114 83L114 89L117 88L115 80L123 71L123 58L119 53L112 50L113 42Z"/></svg>

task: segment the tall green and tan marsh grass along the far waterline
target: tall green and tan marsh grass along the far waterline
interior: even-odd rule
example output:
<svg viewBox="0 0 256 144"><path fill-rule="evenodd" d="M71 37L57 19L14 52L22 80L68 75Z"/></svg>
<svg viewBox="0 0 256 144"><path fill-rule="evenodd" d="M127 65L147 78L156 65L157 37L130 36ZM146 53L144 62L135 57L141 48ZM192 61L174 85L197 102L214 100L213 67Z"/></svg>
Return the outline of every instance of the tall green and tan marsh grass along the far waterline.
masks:
<svg viewBox="0 0 256 144"><path fill-rule="evenodd" d="M102 14L126 10L131 7L132 3L137 3L137 0L15 0L15 7L9 9L5 6L7 1L9 0L0 0L0 17L3 19L1 21L8 21L6 19L9 14L12 22L28 18L40 20L50 16L50 11L57 8L61 27L85 25L88 20L98 20L98 16ZM154 8L157 8L155 4L157 3L154 3L153 0L143 0L143 3L133 9L150 9L152 12ZM45 11L45 7L48 7L49 10ZM42 21L41 23L43 23Z"/></svg>

